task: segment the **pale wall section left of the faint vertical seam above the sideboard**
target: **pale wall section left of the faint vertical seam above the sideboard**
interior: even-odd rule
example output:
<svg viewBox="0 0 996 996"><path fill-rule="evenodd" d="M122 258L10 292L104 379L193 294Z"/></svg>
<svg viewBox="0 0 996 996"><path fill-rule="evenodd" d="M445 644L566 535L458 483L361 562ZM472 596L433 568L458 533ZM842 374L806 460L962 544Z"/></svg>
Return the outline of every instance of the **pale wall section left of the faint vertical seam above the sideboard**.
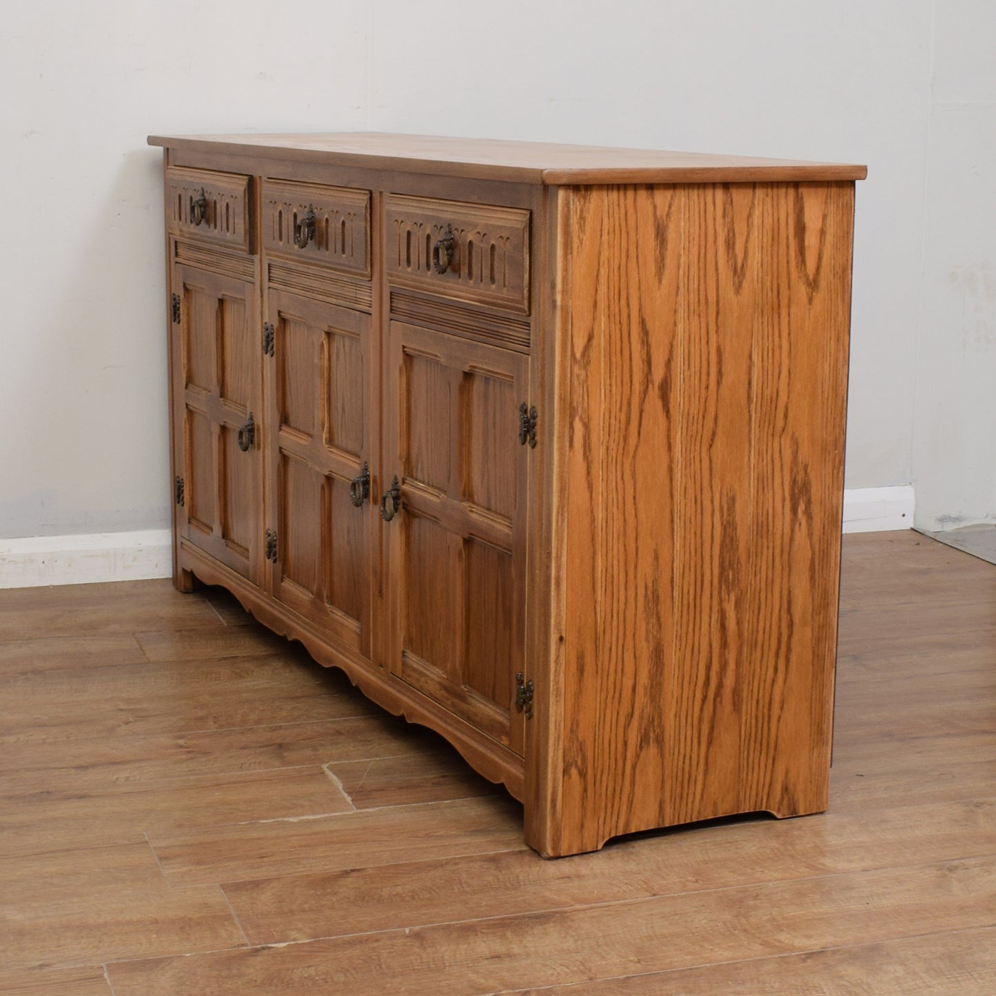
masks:
<svg viewBox="0 0 996 996"><path fill-rule="evenodd" d="M169 523L161 151L367 124L345 0L33 0L0 30L0 538Z"/></svg>

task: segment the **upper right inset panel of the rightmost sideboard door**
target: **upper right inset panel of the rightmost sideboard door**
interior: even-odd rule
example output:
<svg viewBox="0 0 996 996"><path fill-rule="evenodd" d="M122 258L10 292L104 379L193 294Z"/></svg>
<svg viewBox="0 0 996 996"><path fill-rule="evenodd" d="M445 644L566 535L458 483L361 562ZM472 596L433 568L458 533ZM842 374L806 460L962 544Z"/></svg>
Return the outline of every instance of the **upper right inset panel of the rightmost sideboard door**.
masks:
<svg viewBox="0 0 996 996"><path fill-rule="evenodd" d="M515 385L480 371L463 376L459 424L463 431L463 498L506 519L515 513L519 401Z"/></svg>

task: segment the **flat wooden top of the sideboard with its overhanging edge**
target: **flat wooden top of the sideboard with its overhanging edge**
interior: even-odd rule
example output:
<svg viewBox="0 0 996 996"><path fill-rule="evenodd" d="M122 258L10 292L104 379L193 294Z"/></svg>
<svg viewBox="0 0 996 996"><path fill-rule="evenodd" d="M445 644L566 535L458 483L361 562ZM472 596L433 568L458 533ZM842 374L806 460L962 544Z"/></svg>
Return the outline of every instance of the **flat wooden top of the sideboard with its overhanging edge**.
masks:
<svg viewBox="0 0 996 996"><path fill-rule="evenodd" d="M357 131L149 135L150 145L548 185L859 180L865 166L595 145Z"/></svg>

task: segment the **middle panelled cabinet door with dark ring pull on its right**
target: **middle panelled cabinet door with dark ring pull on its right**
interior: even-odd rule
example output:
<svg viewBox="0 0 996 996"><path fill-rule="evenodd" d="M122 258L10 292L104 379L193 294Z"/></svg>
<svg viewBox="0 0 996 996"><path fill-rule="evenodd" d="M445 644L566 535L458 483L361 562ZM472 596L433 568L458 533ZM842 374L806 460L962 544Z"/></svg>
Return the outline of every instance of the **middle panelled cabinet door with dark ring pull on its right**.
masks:
<svg viewBox="0 0 996 996"><path fill-rule="evenodd" d="M273 594L369 657L371 319L278 291L267 315Z"/></svg>

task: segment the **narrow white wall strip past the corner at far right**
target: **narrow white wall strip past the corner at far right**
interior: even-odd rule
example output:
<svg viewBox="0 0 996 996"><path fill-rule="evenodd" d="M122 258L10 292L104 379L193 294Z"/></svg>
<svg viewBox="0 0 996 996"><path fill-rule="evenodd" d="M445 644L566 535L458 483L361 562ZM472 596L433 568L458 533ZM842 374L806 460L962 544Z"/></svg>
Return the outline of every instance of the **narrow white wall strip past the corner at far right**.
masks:
<svg viewBox="0 0 996 996"><path fill-rule="evenodd" d="M912 468L917 525L996 522L996 3L937 4Z"/></svg>

